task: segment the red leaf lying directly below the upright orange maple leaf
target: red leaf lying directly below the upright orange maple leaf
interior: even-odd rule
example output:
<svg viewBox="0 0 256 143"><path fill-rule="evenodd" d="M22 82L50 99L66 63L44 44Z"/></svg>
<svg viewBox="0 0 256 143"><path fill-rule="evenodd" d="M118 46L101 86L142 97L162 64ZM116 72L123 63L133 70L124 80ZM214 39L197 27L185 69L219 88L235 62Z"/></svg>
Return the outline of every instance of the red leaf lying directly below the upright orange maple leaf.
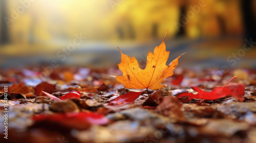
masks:
<svg viewBox="0 0 256 143"><path fill-rule="evenodd" d="M144 92L127 92L117 97L115 100L111 101L109 105L125 105L129 103L134 103L134 101Z"/></svg>

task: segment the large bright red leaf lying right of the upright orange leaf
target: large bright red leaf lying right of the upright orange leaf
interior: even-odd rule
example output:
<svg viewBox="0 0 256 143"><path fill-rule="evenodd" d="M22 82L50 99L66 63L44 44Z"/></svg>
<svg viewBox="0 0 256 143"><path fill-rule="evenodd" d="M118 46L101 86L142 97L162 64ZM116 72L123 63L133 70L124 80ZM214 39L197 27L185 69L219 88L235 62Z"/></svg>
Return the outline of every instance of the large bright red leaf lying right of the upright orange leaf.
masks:
<svg viewBox="0 0 256 143"><path fill-rule="evenodd" d="M226 96L232 96L239 100L240 102L244 101L244 84L239 83L230 83L225 87L215 87L212 91L204 91L199 87L192 87L193 90L197 91L197 94L193 93L181 93L177 98L180 97L189 97L191 99L203 99L203 100L217 100Z"/></svg>

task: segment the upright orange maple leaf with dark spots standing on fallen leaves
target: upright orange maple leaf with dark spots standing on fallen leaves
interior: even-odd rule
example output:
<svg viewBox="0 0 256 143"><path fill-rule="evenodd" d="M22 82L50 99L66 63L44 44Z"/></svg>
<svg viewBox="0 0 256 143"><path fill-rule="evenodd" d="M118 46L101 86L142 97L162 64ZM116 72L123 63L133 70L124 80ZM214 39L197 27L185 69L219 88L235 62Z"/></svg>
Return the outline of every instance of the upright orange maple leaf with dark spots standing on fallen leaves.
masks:
<svg viewBox="0 0 256 143"><path fill-rule="evenodd" d="M159 46L155 47L154 53L148 52L145 69L139 67L135 57L131 58L130 56L124 55L119 49L121 53L121 63L118 64L118 67L122 71L123 76L115 77L116 80L125 85L125 88L149 88L157 90L164 87L161 82L165 78L173 75L173 70L178 65L178 59L183 55L180 55L169 65L166 65L170 52L166 51L164 39Z"/></svg>

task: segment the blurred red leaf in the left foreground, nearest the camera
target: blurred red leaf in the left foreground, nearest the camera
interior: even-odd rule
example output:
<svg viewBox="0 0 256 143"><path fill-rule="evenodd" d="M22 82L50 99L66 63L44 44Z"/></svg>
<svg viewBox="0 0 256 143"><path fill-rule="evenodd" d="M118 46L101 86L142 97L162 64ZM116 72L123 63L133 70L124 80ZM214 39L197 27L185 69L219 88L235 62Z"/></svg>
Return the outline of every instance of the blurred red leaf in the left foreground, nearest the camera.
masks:
<svg viewBox="0 0 256 143"><path fill-rule="evenodd" d="M108 118L106 118L103 114L94 113L94 112L69 112L69 113L55 113L55 114L40 114L34 115L32 117L34 121L43 121L48 120L51 122L68 122L70 120L74 121L73 123L90 123L90 124L97 124L97 125L104 125L107 124ZM72 123L71 123L72 124Z"/></svg>

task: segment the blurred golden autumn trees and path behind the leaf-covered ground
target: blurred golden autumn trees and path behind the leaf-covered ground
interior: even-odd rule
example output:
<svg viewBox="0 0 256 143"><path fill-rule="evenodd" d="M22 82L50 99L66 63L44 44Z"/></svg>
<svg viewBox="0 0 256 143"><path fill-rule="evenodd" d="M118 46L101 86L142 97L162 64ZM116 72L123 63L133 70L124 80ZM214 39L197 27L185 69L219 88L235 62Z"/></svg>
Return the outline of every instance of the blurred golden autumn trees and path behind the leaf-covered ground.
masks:
<svg viewBox="0 0 256 143"><path fill-rule="evenodd" d="M166 30L168 63L256 68L252 0L0 0L0 15L1 68L117 67L117 46L143 67Z"/></svg>

